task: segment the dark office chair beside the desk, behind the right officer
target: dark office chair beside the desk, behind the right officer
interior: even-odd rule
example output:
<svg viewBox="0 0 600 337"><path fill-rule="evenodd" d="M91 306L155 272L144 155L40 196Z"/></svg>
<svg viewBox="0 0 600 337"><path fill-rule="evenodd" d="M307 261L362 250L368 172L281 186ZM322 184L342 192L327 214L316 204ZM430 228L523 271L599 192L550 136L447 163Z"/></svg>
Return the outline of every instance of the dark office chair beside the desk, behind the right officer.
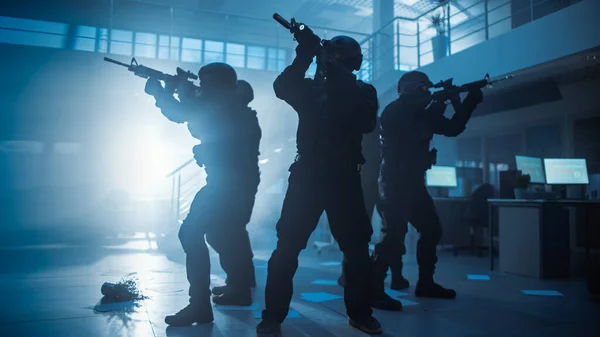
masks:
<svg viewBox="0 0 600 337"><path fill-rule="evenodd" d="M468 246L454 247L454 256L457 256L458 252L461 250L469 250L473 252L473 254L481 257L483 256L483 252L489 249L489 247L478 244L478 242L483 241L483 229L488 227L489 209L487 201L488 199L494 198L495 195L496 189L490 184L483 184L471 193L467 211L465 212L465 215L461 217L461 221L469 226L471 243ZM493 233L489 233L489 235L493 235ZM478 240L478 238L480 239Z"/></svg>

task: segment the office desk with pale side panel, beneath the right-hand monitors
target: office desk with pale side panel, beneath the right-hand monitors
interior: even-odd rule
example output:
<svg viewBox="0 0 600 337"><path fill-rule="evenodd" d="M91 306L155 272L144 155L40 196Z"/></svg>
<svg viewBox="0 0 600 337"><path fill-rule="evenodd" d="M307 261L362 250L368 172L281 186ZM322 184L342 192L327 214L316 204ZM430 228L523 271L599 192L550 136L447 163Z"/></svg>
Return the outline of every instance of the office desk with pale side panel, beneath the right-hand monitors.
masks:
<svg viewBox="0 0 600 337"><path fill-rule="evenodd" d="M599 246L600 201L490 199L488 204L490 233L498 229L501 271L568 277L572 249L583 246L589 257L590 249Z"/></svg>

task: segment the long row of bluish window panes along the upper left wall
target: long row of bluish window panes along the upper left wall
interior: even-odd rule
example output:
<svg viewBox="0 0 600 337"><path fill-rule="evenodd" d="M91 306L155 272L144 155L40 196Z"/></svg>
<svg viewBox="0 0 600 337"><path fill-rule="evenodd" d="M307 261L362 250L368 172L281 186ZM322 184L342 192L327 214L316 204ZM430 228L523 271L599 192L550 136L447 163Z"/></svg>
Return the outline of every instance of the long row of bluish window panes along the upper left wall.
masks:
<svg viewBox="0 0 600 337"><path fill-rule="evenodd" d="M67 45L69 41L69 45ZM0 43L72 48L97 53L198 64L226 62L236 68L281 72L289 50L243 43L200 40L129 30L0 16ZM314 74L314 66L311 68Z"/></svg>

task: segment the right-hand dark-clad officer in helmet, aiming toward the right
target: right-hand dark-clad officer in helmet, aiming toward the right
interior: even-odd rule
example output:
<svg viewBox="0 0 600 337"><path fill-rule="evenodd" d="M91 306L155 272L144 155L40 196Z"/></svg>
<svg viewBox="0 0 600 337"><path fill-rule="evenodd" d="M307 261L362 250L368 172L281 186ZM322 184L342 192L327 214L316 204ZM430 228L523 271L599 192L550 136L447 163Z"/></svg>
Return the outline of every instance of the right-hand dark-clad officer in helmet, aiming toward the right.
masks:
<svg viewBox="0 0 600 337"><path fill-rule="evenodd" d="M433 280L437 262L436 247L442 227L433 200L425 187L425 172L436 162L437 150L429 149L434 134L456 137L463 132L471 114L483 100L481 86L462 89L451 81L433 85L427 75L408 72L398 81L400 97L381 115L382 162L379 191L384 235L375 246L374 296L384 293L384 279L390 265L402 263L406 253L404 238L410 222L421 234L417 243L418 297L455 298L456 292ZM432 87L444 87L431 94ZM460 101L460 91L469 94ZM451 119L444 117L446 101L454 107ZM400 271L401 272L401 271Z"/></svg>

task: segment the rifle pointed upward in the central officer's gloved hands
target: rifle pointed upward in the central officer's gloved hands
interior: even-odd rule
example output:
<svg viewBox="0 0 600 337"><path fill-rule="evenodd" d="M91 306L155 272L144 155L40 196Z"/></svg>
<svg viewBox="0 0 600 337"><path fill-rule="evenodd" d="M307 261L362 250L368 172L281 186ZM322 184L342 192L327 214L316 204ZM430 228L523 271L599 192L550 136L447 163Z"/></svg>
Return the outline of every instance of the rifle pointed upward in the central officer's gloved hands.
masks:
<svg viewBox="0 0 600 337"><path fill-rule="evenodd" d="M297 36L300 34L313 34L316 36L321 42L321 46L319 51L317 52L317 71L315 73L315 80L322 81L325 79L325 75L327 73L327 67L330 64L336 64L336 68L344 71L346 70L342 67L339 62L333 57L335 55L337 46L332 43L330 40L321 39L319 36L314 34L310 28L308 28L305 24L297 22L296 19L292 18L290 21L284 19L281 15L275 13L273 14L273 19L277 21L280 25L290 31L290 33L294 34L295 40L297 40ZM300 42L300 41L299 41ZM344 75L354 76L351 71L346 70ZM355 78L355 77L354 77Z"/></svg>

